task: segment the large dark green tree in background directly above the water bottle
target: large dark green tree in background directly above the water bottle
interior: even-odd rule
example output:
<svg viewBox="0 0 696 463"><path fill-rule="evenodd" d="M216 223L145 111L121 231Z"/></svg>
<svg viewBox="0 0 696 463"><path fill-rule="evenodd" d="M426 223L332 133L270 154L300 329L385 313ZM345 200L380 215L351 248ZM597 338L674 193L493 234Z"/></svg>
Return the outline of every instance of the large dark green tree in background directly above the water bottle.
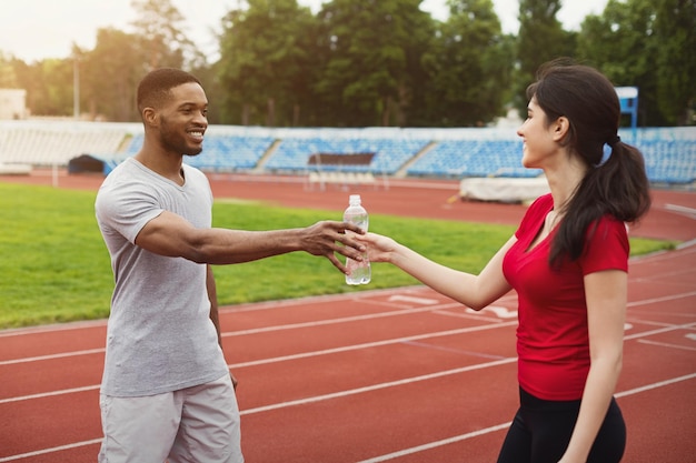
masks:
<svg viewBox="0 0 696 463"><path fill-rule="evenodd" d="M326 62L316 90L327 122L389 125L406 122L431 19L420 0L334 0L319 20Z"/></svg>

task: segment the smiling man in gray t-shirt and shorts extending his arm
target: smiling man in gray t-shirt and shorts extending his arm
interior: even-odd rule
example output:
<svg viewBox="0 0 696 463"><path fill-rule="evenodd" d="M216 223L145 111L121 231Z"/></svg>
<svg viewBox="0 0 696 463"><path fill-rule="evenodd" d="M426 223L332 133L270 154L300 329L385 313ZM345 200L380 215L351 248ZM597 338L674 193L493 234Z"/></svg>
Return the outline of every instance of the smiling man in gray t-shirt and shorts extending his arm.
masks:
<svg viewBox="0 0 696 463"><path fill-rule="evenodd" d="M138 87L142 148L97 195L116 282L100 462L242 462L236 380L220 345L210 264L306 251L345 273L335 252L360 259L364 250L345 233L360 230L341 222L212 229L208 180L182 163L202 151L207 109L193 76L169 68L146 76Z"/></svg>

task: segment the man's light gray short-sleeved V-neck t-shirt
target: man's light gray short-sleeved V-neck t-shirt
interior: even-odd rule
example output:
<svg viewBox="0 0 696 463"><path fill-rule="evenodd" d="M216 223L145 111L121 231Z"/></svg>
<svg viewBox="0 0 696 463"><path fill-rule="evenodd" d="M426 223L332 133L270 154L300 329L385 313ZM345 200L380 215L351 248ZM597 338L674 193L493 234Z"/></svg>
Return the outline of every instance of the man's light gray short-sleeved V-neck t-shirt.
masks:
<svg viewBox="0 0 696 463"><path fill-rule="evenodd" d="M182 187L130 158L105 180L96 201L115 276L101 392L160 394L229 374L210 321L206 264L151 253L135 244L163 211L210 228L208 179L183 165Z"/></svg>

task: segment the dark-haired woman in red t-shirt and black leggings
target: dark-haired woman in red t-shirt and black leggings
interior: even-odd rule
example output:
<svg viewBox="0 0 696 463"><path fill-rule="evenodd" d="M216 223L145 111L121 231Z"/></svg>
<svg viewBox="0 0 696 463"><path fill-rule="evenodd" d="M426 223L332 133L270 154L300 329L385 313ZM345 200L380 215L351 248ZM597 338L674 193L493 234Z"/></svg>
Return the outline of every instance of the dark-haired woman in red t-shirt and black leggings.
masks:
<svg viewBox="0 0 696 463"><path fill-rule="evenodd" d="M613 394L627 302L625 223L650 204L643 157L617 135L618 98L595 69L547 63L527 97L517 131L523 164L544 170L550 194L529 207L478 275L387 236L361 240L371 262L392 263L476 310L516 290L520 406L499 463L618 462L626 429Z"/></svg>

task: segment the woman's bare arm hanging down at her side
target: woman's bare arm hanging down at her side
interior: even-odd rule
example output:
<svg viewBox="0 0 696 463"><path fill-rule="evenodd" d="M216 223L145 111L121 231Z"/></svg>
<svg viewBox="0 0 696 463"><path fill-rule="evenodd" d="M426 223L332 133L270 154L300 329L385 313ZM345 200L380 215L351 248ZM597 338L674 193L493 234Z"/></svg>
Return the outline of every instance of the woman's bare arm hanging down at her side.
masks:
<svg viewBox="0 0 696 463"><path fill-rule="evenodd" d="M561 463L586 462L622 371L628 275L607 270L585 276L591 364L583 404Z"/></svg>

